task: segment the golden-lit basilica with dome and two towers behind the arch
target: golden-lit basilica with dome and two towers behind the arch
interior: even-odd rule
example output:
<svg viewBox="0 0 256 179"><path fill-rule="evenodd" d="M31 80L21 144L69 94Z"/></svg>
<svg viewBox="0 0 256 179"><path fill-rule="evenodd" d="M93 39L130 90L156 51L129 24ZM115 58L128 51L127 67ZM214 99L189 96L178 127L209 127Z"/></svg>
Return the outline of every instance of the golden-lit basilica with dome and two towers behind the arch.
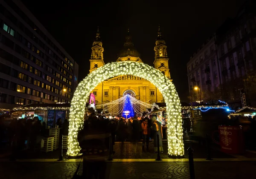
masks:
<svg viewBox="0 0 256 179"><path fill-rule="evenodd" d="M167 57L166 48L167 46L161 35L160 28L158 28L154 47L154 68L160 70L169 80L171 80L168 65L169 58ZM92 46L90 73L105 65L103 52L104 48L98 29L96 39ZM129 29L128 35L125 37L124 46L119 52L116 62L128 60L143 63L142 59L140 59L140 53L134 47L132 38L129 35ZM151 82L132 75L122 75L105 80L98 84L91 93L95 96L96 105L114 101L126 94L130 94L131 96L136 97L136 99L150 104L153 104L154 102L164 102L163 95Z"/></svg>

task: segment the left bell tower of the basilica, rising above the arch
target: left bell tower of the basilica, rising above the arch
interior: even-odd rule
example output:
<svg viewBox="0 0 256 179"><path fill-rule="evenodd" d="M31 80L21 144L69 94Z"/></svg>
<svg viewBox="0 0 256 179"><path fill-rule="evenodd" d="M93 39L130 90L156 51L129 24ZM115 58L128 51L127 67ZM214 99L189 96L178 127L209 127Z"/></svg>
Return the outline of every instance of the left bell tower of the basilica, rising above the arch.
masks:
<svg viewBox="0 0 256 179"><path fill-rule="evenodd" d="M102 40L100 38L100 33L99 33L99 26L96 32L96 38L93 42L93 47L92 47L92 53L91 53L91 58L90 58L90 73L97 68L105 65L103 61L103 51L104 48L102 47Z"/></svg>

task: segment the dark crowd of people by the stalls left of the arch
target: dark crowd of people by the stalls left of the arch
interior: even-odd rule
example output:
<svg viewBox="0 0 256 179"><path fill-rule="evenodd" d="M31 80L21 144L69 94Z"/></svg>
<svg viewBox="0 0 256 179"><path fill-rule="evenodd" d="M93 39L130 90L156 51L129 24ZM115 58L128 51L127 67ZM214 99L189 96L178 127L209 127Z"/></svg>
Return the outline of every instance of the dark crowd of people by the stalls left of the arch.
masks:
<svg viewBox="0 0 256 179"><path fill-rule="evenodd" d="M29 150L37 153L41 149L42 139L49 136L47 126L44 121L39 120L38 116L31 118L13 118L11 122L6 123L4 118L0 118L1 144L8 143L12 150L11 159L16 159L21 151ZM62 124L59 118L56 122L59 128L62 128L62 134L68 134L69 123L65 119Z"/></svg>

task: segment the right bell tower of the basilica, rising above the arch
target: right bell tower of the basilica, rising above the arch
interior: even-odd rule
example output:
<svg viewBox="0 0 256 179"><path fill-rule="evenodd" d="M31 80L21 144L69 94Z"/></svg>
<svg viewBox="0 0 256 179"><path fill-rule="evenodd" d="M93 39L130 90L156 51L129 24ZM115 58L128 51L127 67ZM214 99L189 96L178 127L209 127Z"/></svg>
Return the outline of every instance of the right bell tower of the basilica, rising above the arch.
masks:
<svg viewBox="0 0 256 179"><path fill-rule="evenodd" d="M163 40L160 26L158 27L157 38L156 38L156 45L154 47L155 51L155 60L154 60L154 67L160 70L168 79L171 79L170 72L169 72L169 58L167 57L167 46L165 45L165 41Z"/></svg>

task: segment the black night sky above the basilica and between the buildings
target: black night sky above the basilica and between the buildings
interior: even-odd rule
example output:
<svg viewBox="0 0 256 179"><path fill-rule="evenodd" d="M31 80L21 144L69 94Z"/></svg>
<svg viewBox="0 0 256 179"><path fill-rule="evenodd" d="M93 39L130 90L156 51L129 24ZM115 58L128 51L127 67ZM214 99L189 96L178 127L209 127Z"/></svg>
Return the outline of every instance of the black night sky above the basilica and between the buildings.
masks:
<svg viewBox="0 0 256 179"><path fill-rule="evenodd" d="M237 14L244 0L23 0L23 3L79 64L79 81L89 73L97 26L105 63L117 60L130 28L141 59L153 66L160 24L170 58L171 78L180 99L187 101L189 57L227 18Z"/></svg>

